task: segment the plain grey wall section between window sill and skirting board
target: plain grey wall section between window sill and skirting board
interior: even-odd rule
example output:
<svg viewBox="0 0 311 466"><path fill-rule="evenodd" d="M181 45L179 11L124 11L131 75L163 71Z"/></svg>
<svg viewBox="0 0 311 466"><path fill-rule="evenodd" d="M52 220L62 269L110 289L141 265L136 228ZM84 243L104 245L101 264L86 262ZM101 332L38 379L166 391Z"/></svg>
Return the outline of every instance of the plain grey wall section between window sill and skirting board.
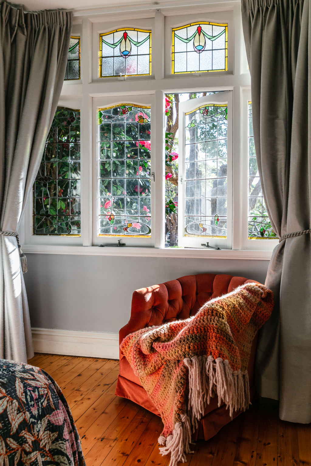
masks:
<svg viewBox="0 0 311 466"><path fill-rule="evenodd" d="M240 275L264 283L269 261L27 254L32 327L117 333L135 289L188 274Z"/></svg>

